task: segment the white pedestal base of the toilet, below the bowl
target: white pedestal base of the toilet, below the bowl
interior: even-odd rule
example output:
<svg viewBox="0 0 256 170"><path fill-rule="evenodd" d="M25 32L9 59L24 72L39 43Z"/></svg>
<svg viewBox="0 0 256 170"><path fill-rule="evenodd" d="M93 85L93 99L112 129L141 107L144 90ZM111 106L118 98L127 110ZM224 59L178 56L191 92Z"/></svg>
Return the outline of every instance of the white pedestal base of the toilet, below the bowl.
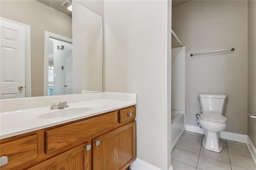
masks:
<svg viewBox="0 0 256 170"><path fill-rule="evenodd" d="M202 144L207 150L211 150L214 152L222 151L222 143L219 139L219 132L206 131Z"/></svg>

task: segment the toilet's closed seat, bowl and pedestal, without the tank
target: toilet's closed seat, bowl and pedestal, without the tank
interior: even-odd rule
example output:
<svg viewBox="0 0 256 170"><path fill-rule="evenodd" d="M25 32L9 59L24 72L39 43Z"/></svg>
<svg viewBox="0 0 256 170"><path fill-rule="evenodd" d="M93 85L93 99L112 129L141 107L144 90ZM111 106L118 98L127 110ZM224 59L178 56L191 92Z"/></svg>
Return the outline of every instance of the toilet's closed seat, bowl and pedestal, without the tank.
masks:
<svg viewBox="0 0 256 170"><path fill-rule="evenodd" d="M205 129L203 146L207 150L214 152L222 151L222 143L219 134L226 126L226 117L218 113L202 113L198 119L199 124Z"/></svg>

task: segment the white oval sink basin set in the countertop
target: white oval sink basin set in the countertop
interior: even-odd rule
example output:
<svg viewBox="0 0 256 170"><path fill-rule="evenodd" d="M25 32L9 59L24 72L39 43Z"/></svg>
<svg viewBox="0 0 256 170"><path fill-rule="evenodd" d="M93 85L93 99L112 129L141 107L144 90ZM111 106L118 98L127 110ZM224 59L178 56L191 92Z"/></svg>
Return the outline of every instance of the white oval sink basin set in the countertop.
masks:
<svg viewBox="0 0 256 170"><path fill-rule="evenodd" d="M70 106L63 109L42 109L38 111L34 111L29 113L29 115L33 114L38 116L39 119L52 119L52 118L60 118L60 117L69 117L74 115L86 114L94 111L94 107L90 106Z"/></svg>

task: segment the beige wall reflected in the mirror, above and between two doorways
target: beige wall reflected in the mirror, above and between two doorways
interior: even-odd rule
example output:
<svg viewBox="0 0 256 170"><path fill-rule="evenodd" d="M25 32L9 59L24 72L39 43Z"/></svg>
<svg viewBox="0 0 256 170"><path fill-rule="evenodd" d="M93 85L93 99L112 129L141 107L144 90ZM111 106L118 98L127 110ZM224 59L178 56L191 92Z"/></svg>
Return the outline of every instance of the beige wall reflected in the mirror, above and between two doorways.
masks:
<svg viewBox="0 0 256 170"><path fill-rule="evenodd" d="M1 0L0 16L30 26L31 94L44 95L44 31L72 38L72 18L36 0Z"/></svg>

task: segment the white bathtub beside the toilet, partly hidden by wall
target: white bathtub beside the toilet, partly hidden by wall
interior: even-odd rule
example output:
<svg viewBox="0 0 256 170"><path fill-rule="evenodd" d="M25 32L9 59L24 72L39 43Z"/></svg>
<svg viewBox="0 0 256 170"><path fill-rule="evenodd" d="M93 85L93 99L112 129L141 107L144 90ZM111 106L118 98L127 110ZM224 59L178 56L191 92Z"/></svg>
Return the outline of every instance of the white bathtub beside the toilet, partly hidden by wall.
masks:
<svg viewBox="0 0 256 170"><path fill-rule="evenodd" d="M173 150L185 131L185 111L172 110L171 149Z"/></svg>

